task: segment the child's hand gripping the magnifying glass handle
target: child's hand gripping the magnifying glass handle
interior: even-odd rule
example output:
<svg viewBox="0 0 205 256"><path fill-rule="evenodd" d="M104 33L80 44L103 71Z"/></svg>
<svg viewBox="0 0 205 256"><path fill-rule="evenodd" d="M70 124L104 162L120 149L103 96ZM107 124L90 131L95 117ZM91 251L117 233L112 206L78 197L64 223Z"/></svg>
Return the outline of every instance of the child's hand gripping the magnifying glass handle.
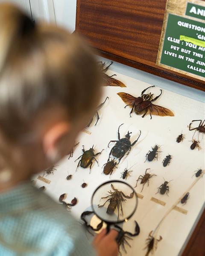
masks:
<svg viewBox="0 0 205 256"><path fill-rule="evenodd" d="M114 229L106 235L106 229L103 229L100 234L96 235L93 241L93 246L97 250L98 256L117 256L118 245L115 239L118 232Z"/></svg>

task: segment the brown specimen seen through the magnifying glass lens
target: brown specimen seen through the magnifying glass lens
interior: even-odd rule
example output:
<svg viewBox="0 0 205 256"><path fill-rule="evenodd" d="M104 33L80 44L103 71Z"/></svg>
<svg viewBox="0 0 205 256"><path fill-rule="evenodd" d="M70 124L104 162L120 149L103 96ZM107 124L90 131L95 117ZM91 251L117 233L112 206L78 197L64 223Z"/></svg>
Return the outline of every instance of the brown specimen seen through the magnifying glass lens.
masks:
<svg viewBox="0 0 205 256"><path fill-rule="evenodd" d="M107 211L106 213L107 214L113 214L116 207L117 207L117 220L119 219L119 214L120 214L120 211L123 215L123 206L122 206L122 202L125 202L126 199L124 199L123 197L125 198L132 198L134 196L134 191L132 193L130 193L129 196L126 196L122 191L119 191L117 190L116 188L114 188L114 186L111 184L111 188L114 190L114 192L112 191L108 191L108 193L110 195L108 196L105 196L105 197L101 197L101 199L104 199L104 198L108 198L103 205L98 205L98 207L103 207L105 205L106 202L109 202L109 205L108 205L108 208L107 208Z"/></svg>

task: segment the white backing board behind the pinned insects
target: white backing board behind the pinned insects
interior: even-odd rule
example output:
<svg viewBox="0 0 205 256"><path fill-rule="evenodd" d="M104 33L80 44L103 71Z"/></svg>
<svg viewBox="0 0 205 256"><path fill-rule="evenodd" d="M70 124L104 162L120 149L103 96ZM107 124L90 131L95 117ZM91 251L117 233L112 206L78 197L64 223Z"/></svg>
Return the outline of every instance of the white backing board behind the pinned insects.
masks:
<svg viewBox="0 0 205 256"><path fill-rule="evenodd" d="M131 176L128 177L126 182L135 187L138 176L144 175L145 170L150 168L149 172L157 176L153 176L149 180L149 187L146 184L142 192L142 185L138 182L135 191L144 197L143 199L138 199L138 208L133 217L127 223L123 224L124 230L134 232L134 220L137 220L141 229L140 234L129 241L131 248L125 245L127 254L123 252L122 248L120 249L122 255L143 256L146 254L144 247L146 246L146 238L148 238L149 232L155 229L167 210L189 188L194 179L196 179L193 176L194 171L205 169L205 140L202 138L202 134L200 134L199 145L201 149L198 150L196 148L191 150L190 145L192 144L191 140L194 131L189 131L187 127L192 120L205 119L205 104L175 92L162 89L162 95L153 103L172 110L175 116L152 116L152 119L150 119L149 115L142 118L133 112L130 118L129 112L131 109L129 107L124 108L125 103L117 95L117 92L127 92L138 97L141 95L142 90L153 84L145 83L111 70L107 71L109 75L114 73L117 74L115 78L121 80L127 87L103 87L103 95L100 103L107 96L109 100L99 110L100 120L97 126L94 126L96 122L96 117L94 117L93 123L86 129L91 134L82 132L79 138L76 139L79 145L74 149L73 158L68 160L68 156L64 157L57 164L57 170L53 174L47 177L46 175L44 176L51 181L49 185L38 179L35 179L35 184L37 187L44 185L46 187L45 193L48 193L58 203L59 196L62 193L67 193L67 202L70 202L76 197L78 203L72 207L71 214L79 219L83 211L91 210L92 193L102 182L111 179L122 180L120 177L124 169L133 166L130 169L132 170L132 173L130 173ZM148 92L152 92L156 96L160 93L160 89L156 86L155 88L150 88ZM140 130L141 137L132 147L129 155L125 155L120 164L117 165L117 169L114 169L112 176L106 176L102 173L103 164L107 162L109 152L114 146L114 143L110 143L110 148L108 148L108 143L110 140L117 140L117 129L122 123L123 125L120 127L121 138L130 131L132 132L130 139L132 143L138 138ZM199 122L193 125L195 124L197 126ZM181 133L185 135L185 139L183 142L177 143L176 138ZM198 140L197 131L194 138ZM161 152L158 153L158 160L155 159L151 162L145 161L146 153L155 144L160 145L159 151ZM96 153L104 149L102 154L96 157L99 166L95 161L93 162L91 174L89 174L89 168L83 169L79 167L76 171L79 160L76 162L75 160L82 155L82 145L85 146L85 150L88 150L94 145ZM171 162L167 167L163 167L162 161L168 154L172 156ZM72 179L66 180L67 175L70 174L73 175ZM169 183L169 196L157 193L158 187L164 182L163 178L166 181L172 180ZM83 182L88 184L86 188L81 187ZM204 176L189 193L190 198L187 200L187 203L185 205L178 205L180 208L186 210L187 214L172 210L161 225L158 235L161 235L163 239L158 243L155 255L179 255L204 206ZM166 204L163 206L155 203L150 200L152 197ZM70 213L68 212L68 214Z"/></svg>

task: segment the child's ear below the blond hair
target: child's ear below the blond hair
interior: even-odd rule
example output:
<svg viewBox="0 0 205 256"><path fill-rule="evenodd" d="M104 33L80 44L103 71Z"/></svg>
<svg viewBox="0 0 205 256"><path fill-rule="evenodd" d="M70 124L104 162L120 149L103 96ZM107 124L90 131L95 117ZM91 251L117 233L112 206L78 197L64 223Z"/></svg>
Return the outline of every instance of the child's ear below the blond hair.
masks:
<svg viewBox="0 0 205 256"><path fill-rule="evenodd" d="M58 151L58 142L70 131L70 124L66 121L51 126L43 136L43 150L47 158L56 162L61 158Z"/></svg>

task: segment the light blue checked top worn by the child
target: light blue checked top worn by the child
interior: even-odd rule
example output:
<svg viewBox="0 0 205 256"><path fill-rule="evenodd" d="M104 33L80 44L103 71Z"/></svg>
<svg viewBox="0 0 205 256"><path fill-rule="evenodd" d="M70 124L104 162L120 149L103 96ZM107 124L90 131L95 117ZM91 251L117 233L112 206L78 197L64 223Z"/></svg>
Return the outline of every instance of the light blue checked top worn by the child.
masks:
<svg viewBox="0 0 205 256"><path fill-rule="evenodd" d="M31 182L0 194L0 256L24 255L96 255L81 225Z"/></svg>

